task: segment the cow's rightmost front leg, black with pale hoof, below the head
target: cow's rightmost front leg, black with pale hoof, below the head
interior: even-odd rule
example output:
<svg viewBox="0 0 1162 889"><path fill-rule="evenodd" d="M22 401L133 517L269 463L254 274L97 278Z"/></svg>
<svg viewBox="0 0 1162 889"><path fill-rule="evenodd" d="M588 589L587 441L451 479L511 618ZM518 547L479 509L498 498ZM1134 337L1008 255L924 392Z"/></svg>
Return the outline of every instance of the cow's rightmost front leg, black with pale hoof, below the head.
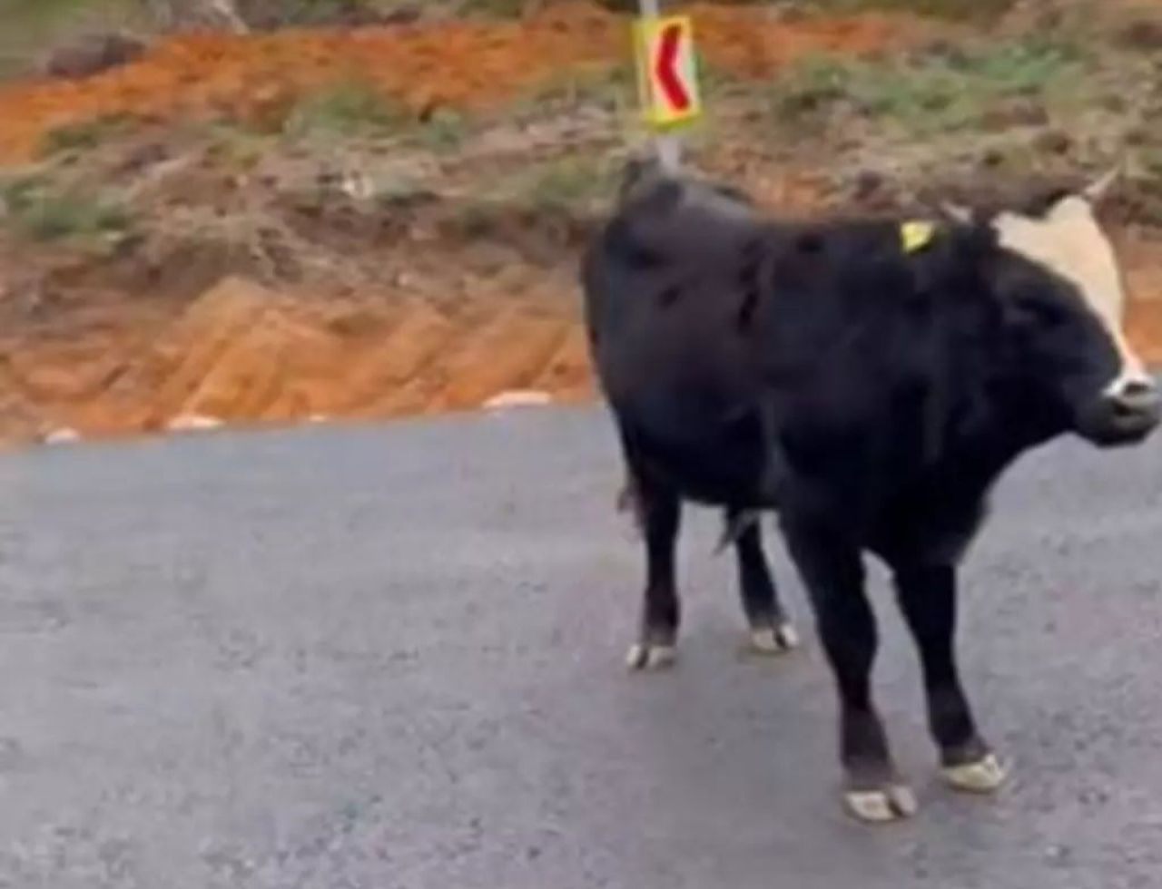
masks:
<svg viewBox="0 0 1162 889"><path fill-rule="evenodd" d="M1006 775L976 729L956 668L956 571L952 565L904 566L895 578L920 651L928 725L945 780L957 790L991 793Z"/></svg>

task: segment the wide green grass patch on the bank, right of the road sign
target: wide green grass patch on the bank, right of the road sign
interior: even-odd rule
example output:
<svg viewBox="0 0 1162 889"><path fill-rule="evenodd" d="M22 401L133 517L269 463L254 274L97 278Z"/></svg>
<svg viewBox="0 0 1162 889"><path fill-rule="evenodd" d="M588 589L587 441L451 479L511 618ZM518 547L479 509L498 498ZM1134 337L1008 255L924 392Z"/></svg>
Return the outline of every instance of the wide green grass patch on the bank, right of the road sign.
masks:
<svg viewBox="0 0 1162 889"><path fill-rule="evenodd" d="M774 89L783 120L818 117L837 104L920 133L971 125L998 101L1053 102L1077 86L1079 52L1052 41L998 43L911 59L817 56L791 67Z"/></svg>

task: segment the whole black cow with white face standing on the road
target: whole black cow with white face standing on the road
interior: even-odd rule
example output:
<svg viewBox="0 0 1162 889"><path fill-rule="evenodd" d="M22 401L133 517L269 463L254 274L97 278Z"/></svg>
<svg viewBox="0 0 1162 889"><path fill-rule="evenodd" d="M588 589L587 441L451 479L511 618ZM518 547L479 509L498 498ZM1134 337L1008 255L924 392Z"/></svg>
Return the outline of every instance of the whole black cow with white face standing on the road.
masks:
<svg viewBox="0 0 1162 889"><path fill-rule="evenodd" d="M646 550L633 667L674 655L683 500L774 509L840 700L845 802L910 815L871 699L863 555L892 571L919 646L942 773L1005 778L954 658L956 566L988 492L1068 433L1142 441L1160 397L1121 334L1122 286L1095 221L1112 175L1021 211L780 222L713 185L643 175L590 245L590 347ZM759 649L794 645L756 522L737 522Z"/></svg>

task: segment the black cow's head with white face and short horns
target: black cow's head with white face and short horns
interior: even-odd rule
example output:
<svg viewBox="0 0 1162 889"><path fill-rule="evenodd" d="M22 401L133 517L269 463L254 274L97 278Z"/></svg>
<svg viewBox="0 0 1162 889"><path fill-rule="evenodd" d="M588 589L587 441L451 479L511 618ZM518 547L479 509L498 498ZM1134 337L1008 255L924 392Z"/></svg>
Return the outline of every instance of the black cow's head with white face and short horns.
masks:
<svg viewBox="0 0 1162 889"><path fill-rule="evenodd" d="M1122 332L1122 275L1095 216L1116 175L1033 212L996 214L989 225L1002 250L985 273L1009 347L1006 376L1033 410L1103 447L1141 441L1162 410Z"/></svg>

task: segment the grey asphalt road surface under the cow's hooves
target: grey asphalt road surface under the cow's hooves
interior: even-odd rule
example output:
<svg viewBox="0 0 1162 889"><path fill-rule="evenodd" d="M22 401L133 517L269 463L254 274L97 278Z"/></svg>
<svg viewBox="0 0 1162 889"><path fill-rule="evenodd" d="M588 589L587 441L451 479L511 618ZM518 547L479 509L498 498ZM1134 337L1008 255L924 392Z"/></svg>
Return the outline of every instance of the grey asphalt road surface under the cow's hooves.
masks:
<svg viewBox="0 0 1162 889"><path fill-rule="evenodd" d="M0 887L1162 886L1162 439L1021 463L966 572L1014 760L935 780L881 571L877 684L921 810L847 821L805 648L738 655L690 515L679 666L631 675L640 556L595 411L0 458Z"/></svg>

